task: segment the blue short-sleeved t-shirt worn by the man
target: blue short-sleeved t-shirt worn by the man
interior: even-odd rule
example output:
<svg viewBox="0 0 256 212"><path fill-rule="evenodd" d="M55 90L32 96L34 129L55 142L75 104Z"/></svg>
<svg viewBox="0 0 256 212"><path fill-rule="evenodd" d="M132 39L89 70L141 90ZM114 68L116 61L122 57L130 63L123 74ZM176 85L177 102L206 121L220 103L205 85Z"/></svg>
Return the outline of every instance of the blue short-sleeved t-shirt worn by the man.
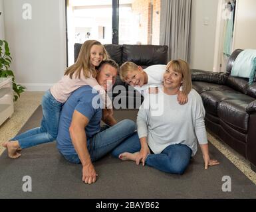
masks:
<svg viewBox="0 0 256 212"><path fill-rule="evenodd" d="M100 120L102 109L99 102L98 93L89 85L82 86L74 91L66 100L61 111L59 120L59 132L57 136L57 148L64 155L76 154L72 144L69 127L72 121L74 110L82 113L89 120L85 128L87 140L94 134L100 132Z"/></svg>

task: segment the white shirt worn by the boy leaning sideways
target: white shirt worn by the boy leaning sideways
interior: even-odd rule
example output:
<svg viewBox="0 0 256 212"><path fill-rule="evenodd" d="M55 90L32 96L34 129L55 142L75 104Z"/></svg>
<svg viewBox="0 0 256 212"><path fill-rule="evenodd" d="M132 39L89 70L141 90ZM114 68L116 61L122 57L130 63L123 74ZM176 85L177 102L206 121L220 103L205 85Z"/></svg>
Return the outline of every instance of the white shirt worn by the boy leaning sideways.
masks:
<svg viewBox="0 0 256 212"><path fill-rule="evenodd" d="M160 85L163 85L166 65L148 66L148 68L144 69L144 72L148 74L148 83L146 83L146 85L143 85L142 87L138 85L134 86L134 88L143 96L148 93L149 87L158 87Z"/></svg>

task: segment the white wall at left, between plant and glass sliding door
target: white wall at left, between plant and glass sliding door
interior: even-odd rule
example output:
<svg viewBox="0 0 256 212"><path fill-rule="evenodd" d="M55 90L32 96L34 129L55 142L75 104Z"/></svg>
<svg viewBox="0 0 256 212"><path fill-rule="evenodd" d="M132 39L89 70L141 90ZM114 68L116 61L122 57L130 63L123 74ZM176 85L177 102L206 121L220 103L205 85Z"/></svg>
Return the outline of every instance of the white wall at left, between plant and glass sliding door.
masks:
<svg viewBox="0 0 256 212"><path fill-rule="evenodd" d="M23 19L23 4L32 19ZM3 0L5 39L17 83L27 91L45 91L59 81L66 68L64 0Z"/></svg>

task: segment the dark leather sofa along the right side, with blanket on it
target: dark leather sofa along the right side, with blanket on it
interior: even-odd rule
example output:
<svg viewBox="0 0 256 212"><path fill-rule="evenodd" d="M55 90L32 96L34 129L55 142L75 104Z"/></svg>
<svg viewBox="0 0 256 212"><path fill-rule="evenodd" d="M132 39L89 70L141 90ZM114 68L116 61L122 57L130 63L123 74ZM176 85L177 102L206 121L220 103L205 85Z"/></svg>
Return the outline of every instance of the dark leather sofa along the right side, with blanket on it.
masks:
<svg viewBox="0 0 256 212"><path fill-rule="evenodd" d="M243 155L256 172L256 82L230 75L243 50L235 50L226 73L192 70L193 89L203 99L205 125L223 142Z"/></svg>

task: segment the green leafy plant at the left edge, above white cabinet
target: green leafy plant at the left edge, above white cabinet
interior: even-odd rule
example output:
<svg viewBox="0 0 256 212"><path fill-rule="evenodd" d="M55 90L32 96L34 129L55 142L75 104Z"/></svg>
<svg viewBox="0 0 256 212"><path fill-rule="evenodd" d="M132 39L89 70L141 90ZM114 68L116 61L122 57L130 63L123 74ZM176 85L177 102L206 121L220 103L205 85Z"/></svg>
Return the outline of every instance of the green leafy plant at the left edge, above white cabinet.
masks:
<svg viewBox="0 0 256 212"><path fill-rule="evenodd" d="M18 97L24 91L25 86L15 83L13 71L10 70L12 60L8 43L5 40L0 40L0 78L13 78L13 98L14 101L17 101Z"/></svg>

